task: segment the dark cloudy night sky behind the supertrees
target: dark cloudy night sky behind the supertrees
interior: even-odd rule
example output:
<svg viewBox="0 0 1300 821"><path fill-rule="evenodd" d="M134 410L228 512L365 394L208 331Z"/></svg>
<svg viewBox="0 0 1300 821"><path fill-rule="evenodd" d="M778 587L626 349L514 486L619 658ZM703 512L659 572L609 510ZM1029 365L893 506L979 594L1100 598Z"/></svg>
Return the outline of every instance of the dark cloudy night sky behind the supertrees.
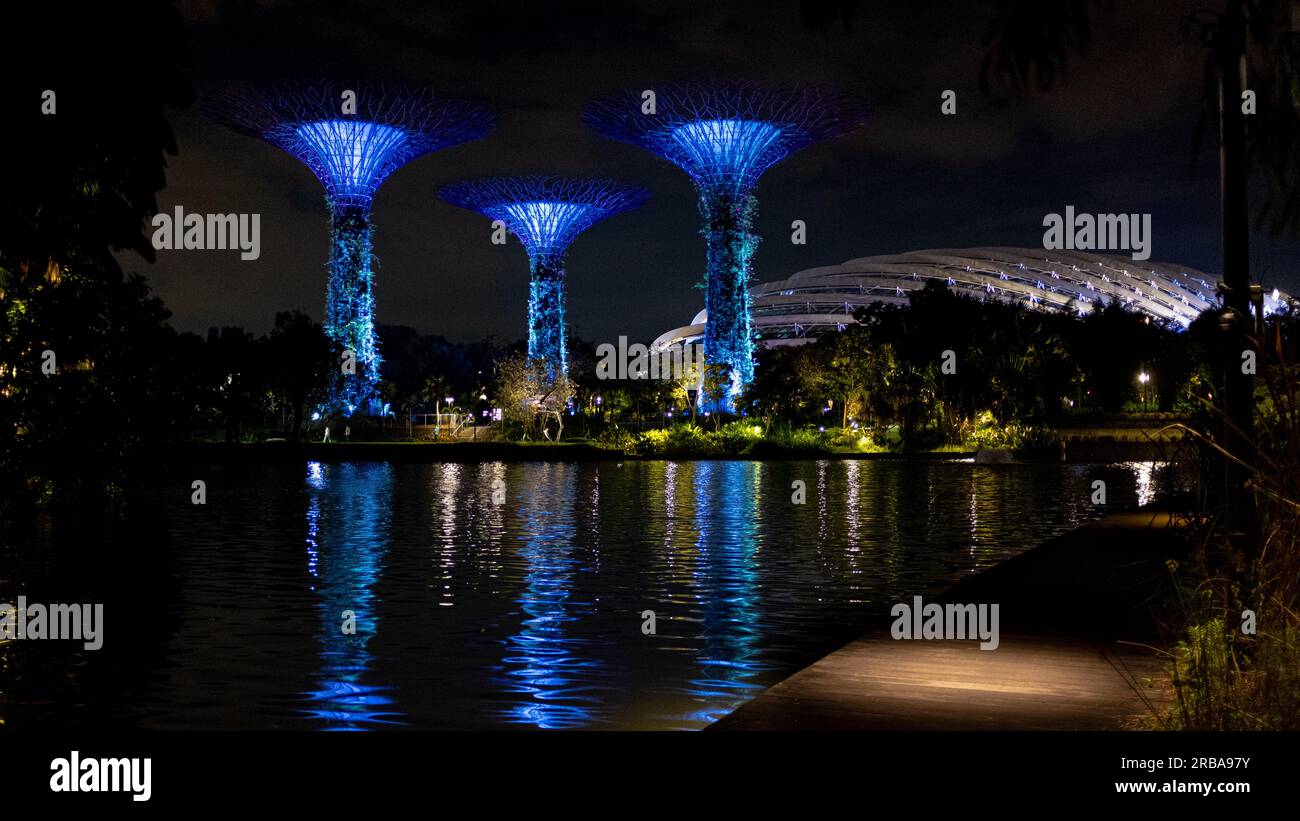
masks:
<svg viewBox="0 0 1300 821"><path fill-rule="evenodd" d="M480 175L598 175L649 188L644 208L581 235L568 255L568 312L578 336L645 339L702 308L703 239L696 195L675 166L588 131L595 95L677 79L820 82L867 96L859 131L771 169L758 187L759 281L878 253L978 246L1041 247L1043 216L1152 213L1152 259L1219 269L1218 157L1201 117L1202 55L1179 27L1187 3L1117 4L1063 84L1031 99L984 96L980 40L992 0L859 3L849 27L810 27L780 3L181 3L200 96L283 78L428 84L491 105L488 139L396 171L374 201L377 320L452 340L525 333L528 260L488 221L439 201L439 186ZM962 5L962 9L957 6ZM1126 8L1128 5L1140 8ZM958 114L940 114L953 88ZM207 121L172 117L159 207L261 214L261 257L130 252L179 330L263 333L274 313L320 320L328 212L296 160ZM793 220L807 223L792 246ZM1252 236L1253 275L1300 291L1296 243Z"/></svg>

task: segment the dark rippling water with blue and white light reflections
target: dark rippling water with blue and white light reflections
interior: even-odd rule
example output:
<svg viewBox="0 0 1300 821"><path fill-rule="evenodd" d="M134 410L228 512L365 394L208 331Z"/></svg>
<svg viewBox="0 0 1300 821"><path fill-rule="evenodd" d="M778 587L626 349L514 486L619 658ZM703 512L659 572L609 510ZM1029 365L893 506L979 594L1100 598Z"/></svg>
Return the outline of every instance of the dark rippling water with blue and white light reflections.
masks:
<svg viewBox="0 0 1300 821"><path fill-rule="evenodd" d="M125 534L0 548L0 601L105 603L98 652L0 644L0 721L697 729L884 624L892 603L1147 501L1164 475L913 461L212 468L207 505L176 481L138 500ZM1097 478L1105 508L1089 503ZM796 479L806 504L792 504Z"/></svg>

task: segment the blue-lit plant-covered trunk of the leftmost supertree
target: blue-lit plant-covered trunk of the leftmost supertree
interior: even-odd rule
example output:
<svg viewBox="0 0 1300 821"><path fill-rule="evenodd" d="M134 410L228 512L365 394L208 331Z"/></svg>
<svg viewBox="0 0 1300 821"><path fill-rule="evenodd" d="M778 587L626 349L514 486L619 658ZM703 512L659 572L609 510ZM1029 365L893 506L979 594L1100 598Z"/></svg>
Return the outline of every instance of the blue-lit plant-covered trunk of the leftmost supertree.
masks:
<svg viewBox="0 0 1300 821"><path fill-rule="evenodd" d="M355 355L355 372L334 370L330 409L372 412L378 400L380 351L374 338L370 216L350 207L330 209L329 287L325 333Z"/></svg>

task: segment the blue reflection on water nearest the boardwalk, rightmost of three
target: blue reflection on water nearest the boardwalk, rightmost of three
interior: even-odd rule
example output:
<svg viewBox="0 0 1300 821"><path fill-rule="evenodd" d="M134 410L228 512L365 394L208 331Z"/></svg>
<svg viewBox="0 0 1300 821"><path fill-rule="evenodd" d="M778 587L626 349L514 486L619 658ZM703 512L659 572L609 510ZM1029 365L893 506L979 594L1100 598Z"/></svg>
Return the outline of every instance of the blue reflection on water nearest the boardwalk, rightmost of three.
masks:
<svg viewBox="0 0 1300 821"><path fill-rule="evenodd" d="M696 595L701 670L688 692L702 704L688 720L711 724L763 690L759 661L759 586L755 552L762 503L762 464L696 462Z"/></svg>

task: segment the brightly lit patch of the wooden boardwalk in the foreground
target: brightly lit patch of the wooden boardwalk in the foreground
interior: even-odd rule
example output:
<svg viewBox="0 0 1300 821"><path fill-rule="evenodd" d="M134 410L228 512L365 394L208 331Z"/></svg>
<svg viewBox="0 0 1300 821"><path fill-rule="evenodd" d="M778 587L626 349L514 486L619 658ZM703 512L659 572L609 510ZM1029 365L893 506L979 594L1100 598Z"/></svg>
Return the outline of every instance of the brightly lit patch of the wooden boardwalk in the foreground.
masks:
<svg viewBox="0 0 1300 821"><path fill-rule="evenodd" d="M978 642L868 634L711 730L1110 730L1169 701L1153 653L1078 638Z"/></svg>

